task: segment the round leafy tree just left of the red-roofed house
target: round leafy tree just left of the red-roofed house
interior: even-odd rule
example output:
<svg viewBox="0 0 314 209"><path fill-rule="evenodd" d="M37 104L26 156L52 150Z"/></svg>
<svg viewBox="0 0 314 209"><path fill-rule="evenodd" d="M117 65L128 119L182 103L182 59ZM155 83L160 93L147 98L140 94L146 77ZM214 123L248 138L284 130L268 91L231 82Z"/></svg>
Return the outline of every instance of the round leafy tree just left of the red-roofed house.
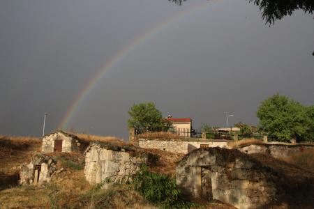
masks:
<svg viewBox="0 0 314 209"><path fill-rule="evenodd" d="M128 127L140 130L161 130L165 126L162 113L156 109L153 102L133 104L128 114L130 115Z"/></svg>

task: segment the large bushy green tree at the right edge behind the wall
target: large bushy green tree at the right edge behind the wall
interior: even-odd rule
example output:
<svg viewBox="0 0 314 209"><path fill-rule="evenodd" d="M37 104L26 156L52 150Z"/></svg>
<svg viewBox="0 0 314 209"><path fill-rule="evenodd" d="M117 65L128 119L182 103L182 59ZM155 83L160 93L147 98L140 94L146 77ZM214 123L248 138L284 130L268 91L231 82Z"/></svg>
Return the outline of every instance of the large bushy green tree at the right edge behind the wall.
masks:
<svg viewBox="0 0 314 209"><path fill-rule="evenodd" d="M257 109L262 130L274 134L281 141L292 138L313 140L313 106L304 107L278 93L262 101Z"/></svg>

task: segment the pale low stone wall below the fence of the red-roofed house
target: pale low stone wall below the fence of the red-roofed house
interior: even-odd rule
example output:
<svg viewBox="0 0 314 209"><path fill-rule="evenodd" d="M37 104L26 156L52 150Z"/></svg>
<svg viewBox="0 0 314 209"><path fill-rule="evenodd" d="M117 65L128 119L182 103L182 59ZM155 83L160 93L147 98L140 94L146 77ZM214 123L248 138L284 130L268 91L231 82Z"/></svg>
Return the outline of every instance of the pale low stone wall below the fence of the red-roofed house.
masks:
<svg viewBox="0 0 314 209"><path fill-rule="evenodd" d="M141 148L154 148L172 153L188 153L188 141L139 139L138 143Z"/></svg>

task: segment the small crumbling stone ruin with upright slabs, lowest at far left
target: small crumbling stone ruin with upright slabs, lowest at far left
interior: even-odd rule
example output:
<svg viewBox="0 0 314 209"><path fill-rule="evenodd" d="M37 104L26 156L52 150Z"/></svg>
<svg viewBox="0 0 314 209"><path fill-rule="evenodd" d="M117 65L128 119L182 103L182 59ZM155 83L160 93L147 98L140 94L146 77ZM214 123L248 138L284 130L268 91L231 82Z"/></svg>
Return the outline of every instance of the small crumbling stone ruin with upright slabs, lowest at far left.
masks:
<svg viewBox="0 0 314 209"><path fill-rule="evenodd" d="M56 160L52 157L36 153L29 164L22 164L20 169L21 185L42 185L50 182L52 174L57 170Z"/></svg>

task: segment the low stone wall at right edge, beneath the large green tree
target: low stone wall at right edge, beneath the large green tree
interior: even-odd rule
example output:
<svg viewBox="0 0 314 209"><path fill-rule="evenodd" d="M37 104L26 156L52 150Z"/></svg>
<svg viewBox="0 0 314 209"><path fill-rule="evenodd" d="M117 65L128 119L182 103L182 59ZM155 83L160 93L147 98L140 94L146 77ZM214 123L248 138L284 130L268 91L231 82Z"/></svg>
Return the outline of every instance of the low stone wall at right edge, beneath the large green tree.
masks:
<svg viewBox="0 0 314 209"><path fill-rule="evenodd" d="M253 154L263 153L269 154L275 158L289 157L297 153L301 153L306 149L314 148L314 145L304 144L248 144L239 146L238 150L242 153Z"/></svg>

